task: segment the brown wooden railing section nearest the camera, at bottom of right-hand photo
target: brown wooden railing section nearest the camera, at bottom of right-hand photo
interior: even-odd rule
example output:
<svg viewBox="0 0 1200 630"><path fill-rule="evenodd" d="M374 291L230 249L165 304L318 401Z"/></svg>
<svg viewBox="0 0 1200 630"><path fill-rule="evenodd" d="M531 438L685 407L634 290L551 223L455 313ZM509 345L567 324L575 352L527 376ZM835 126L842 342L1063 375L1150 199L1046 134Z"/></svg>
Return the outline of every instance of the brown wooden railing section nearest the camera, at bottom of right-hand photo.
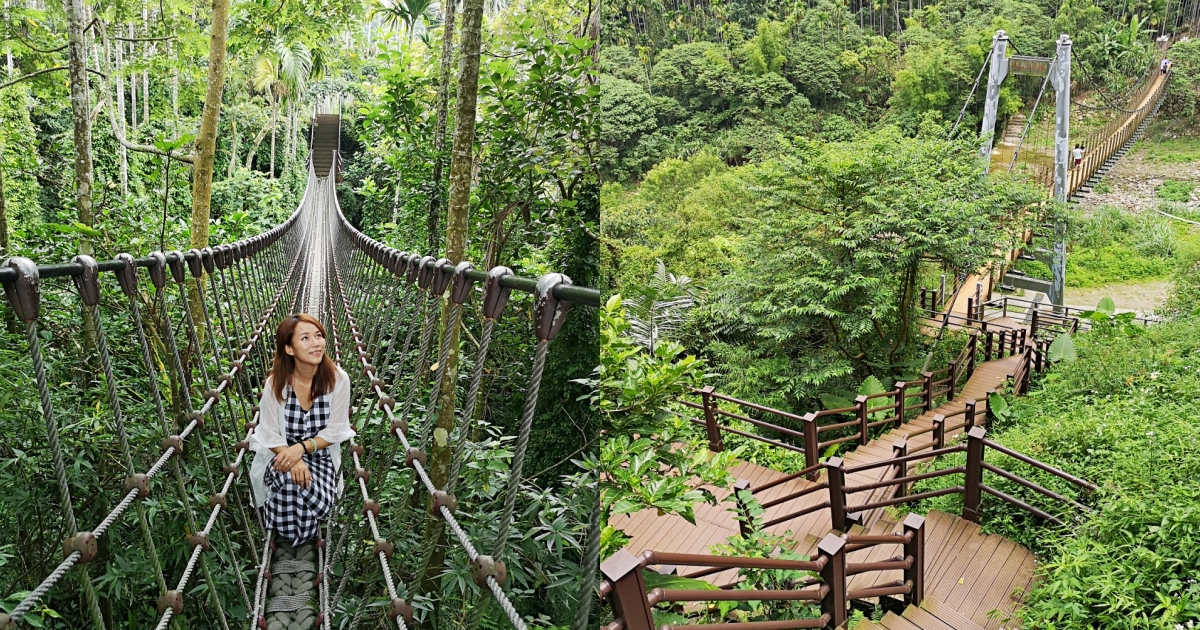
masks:
<svg viewBox="0 0 1200 630"><path fill-rule="evenodd" d="M876 545L899 545L901 554L872 563L850 563L846 554ZM920 604L924 599L925 568L925 518L912 514L901 524L900 532L888 535L835 535L828 534L817 545L817 557L812 560L784 560L775 558L745 558L703 556L692 553L664 553L644 551L634 556L620 550L600 564L604 580L600 596L612 606L614 620L604 630L670 630L692 628L700 624L654 624L654 606L659 604L692 601L811 601L820 604L821 616L787 622L746 622L733 625L744 630L788 628L844 628L848 618L851 600L899 595L905 604ZM793 589L662 589L647 592L644 571L654 570L680 577L701 578L728 569L775 569L809 571L816 574L799 580ZM680 568L702 568L683 574ZM870 571L904 571L900 583L848 590L850 578ZM766 624L766 625L764 625Z"/></svg>

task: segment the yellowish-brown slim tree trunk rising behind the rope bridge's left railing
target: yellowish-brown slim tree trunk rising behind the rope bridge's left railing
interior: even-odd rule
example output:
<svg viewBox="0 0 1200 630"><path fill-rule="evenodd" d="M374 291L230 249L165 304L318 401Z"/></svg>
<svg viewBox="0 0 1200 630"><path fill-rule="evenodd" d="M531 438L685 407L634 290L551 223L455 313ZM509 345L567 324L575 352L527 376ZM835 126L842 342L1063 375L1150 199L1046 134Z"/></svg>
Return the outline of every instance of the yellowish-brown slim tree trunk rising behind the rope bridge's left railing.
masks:
<svg viewBox="0 0 1200 630"><path fill-rule="evenodd" d="M203 250L209 246L209 214L212 200L212 162L216 160L217 126L221 122L221 95L224 92L226 35L229 29L229 0L212 0L212 32L209 35L209 77L204 92L204 112L200 115L200 132L196 136L196 162L192 169L192 238L191 246ZM196 282L188 284L192 312L203 308ZM204 347L204 326L200 346Z"/></svg>

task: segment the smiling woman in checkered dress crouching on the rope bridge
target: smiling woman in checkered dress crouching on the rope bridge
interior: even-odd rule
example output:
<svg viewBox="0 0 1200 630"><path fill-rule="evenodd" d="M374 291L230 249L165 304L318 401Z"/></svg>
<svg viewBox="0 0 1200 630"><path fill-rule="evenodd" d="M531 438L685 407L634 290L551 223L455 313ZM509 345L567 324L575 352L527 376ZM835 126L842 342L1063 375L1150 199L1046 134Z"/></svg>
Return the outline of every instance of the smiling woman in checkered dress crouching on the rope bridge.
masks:
<svg viewBox="0 0 1200 630"><path fill-rule="evenodd" d="M350 428L350 379L325 354L325 328L306 313L280 322L275 360L251 437L250 480L266 528L302 545L341 493L338 445Z"/></svg>

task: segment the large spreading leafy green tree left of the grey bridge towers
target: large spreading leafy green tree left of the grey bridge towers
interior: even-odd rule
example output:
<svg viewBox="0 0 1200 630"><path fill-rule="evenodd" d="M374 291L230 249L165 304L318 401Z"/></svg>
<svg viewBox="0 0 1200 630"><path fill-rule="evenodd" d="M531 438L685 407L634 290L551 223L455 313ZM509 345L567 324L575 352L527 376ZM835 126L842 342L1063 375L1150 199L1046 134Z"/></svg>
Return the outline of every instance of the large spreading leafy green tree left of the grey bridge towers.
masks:
<svg viewBox="0 0 1200 630"><path fill-rule="evenodd" d="M803 410L866 361L896 376L918 347L922 260L988 265L1036 198L980 180L974 151L884 128L853 143L806 143L749 170L756 211L745 242L757 257L722 277L701 311L734 395Z"/></svg>

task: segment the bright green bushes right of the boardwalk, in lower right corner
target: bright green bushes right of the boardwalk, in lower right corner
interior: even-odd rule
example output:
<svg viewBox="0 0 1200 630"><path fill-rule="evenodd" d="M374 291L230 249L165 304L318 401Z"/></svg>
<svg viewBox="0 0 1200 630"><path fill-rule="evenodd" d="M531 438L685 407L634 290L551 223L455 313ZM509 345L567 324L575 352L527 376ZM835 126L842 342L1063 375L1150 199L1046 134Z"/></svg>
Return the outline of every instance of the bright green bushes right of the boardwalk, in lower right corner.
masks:
<svg viewBox="0 0 1200 630"><path fill-rule="evenodd" d="M1200 448L1190 407L1180 404L1200 400L1198 323L1136 334L1116 328L1075 341L1078 360L1055 364L1028 396L1010 400L989 437L1097 484L1097 493L1007 457L988 460L1096 511L1079 521L1061 502L985 473L992 487L1072 524L1045 527L985 498L984 527L1040 554L1038 581L1019 612L1022 628L1175 628L1200 614ZM934 486L922 482L914 492ZM955 510L955 500L926 506Z"/></svg>

